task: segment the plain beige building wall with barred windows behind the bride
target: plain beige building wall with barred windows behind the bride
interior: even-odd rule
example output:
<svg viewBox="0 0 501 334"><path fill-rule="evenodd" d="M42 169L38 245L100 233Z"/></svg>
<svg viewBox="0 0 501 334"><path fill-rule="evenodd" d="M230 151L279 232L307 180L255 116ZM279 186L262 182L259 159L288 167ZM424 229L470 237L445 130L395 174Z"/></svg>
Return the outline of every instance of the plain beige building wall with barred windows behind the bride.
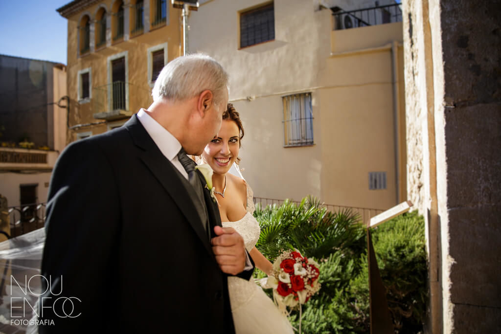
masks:
<svg viewBox="0 0 501 334"><path fill-rule="evenodd" d="M240 167L256 197L383 210L407 199L400 9L371 9L391 10L397 22L387 24L333 15L362 5L212 0L190 14L188 52L230 75L245 129ZM253 15L273 27L267 41L249 38L263 34ZM338 29L344 16L353 29Z"/></svg>

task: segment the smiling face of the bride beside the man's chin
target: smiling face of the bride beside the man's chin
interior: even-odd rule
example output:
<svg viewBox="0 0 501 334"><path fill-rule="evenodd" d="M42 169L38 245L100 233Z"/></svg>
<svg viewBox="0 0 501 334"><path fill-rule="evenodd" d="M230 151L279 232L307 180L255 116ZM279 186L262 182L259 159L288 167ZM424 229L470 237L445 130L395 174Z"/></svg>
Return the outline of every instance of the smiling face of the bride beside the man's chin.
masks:
<svg viewBox="0 0 501 334"><path fill-rule="evenodd" d="M231 120L223 120L217 135L205 146L202 159L217 174L224 174L238 157L240 139L238 126Z"/></svg>

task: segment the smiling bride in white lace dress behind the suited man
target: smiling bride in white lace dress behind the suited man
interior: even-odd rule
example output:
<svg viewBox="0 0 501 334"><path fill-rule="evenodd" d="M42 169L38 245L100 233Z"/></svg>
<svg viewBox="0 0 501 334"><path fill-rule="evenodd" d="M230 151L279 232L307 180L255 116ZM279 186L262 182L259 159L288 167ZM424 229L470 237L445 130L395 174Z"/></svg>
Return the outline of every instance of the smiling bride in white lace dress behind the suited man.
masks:
<svg viewBox="0 0 501 334"><path fill-rule="evenodd" d="M256 266L273 275L273 264L255 247L261 230L253 216L253 191L243 179L228 173L233 163L240 161L238 151L242 138L240 117L228 103L221 129L205 146L202 161L213 170L212 186L215 187L222 226L233 227L243 237L245 248ZM237 334L293 332L285 315L254 280L229 276L228 292Z"/></svg>

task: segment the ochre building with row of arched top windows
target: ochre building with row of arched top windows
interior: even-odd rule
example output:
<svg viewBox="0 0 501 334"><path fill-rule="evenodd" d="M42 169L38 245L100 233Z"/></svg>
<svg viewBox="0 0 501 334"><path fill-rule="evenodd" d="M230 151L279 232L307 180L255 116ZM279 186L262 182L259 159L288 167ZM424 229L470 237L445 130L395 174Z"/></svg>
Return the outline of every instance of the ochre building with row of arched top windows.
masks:
<svg viewBox="0 0 501 334"><path fill-rule="evenodd" d="M156 75L182 54L181 12L170 1L77 0L58 12L68 19L68 142L147 108Z"/></svg>

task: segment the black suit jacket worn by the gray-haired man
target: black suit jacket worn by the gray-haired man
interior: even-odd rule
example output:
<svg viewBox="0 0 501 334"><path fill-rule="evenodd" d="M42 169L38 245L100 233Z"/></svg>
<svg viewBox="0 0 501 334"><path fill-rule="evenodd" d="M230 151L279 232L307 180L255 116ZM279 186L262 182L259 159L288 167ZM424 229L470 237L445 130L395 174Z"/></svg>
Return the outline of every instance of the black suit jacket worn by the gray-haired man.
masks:
<svg viewBox="0 0 501 334"><path fill-rule="evenodd" d="M136 115L61 154L39 316L54 324L40 332L234 332L226 275L176 173ZM219 211L204 191L213 233Z"/></svg>

